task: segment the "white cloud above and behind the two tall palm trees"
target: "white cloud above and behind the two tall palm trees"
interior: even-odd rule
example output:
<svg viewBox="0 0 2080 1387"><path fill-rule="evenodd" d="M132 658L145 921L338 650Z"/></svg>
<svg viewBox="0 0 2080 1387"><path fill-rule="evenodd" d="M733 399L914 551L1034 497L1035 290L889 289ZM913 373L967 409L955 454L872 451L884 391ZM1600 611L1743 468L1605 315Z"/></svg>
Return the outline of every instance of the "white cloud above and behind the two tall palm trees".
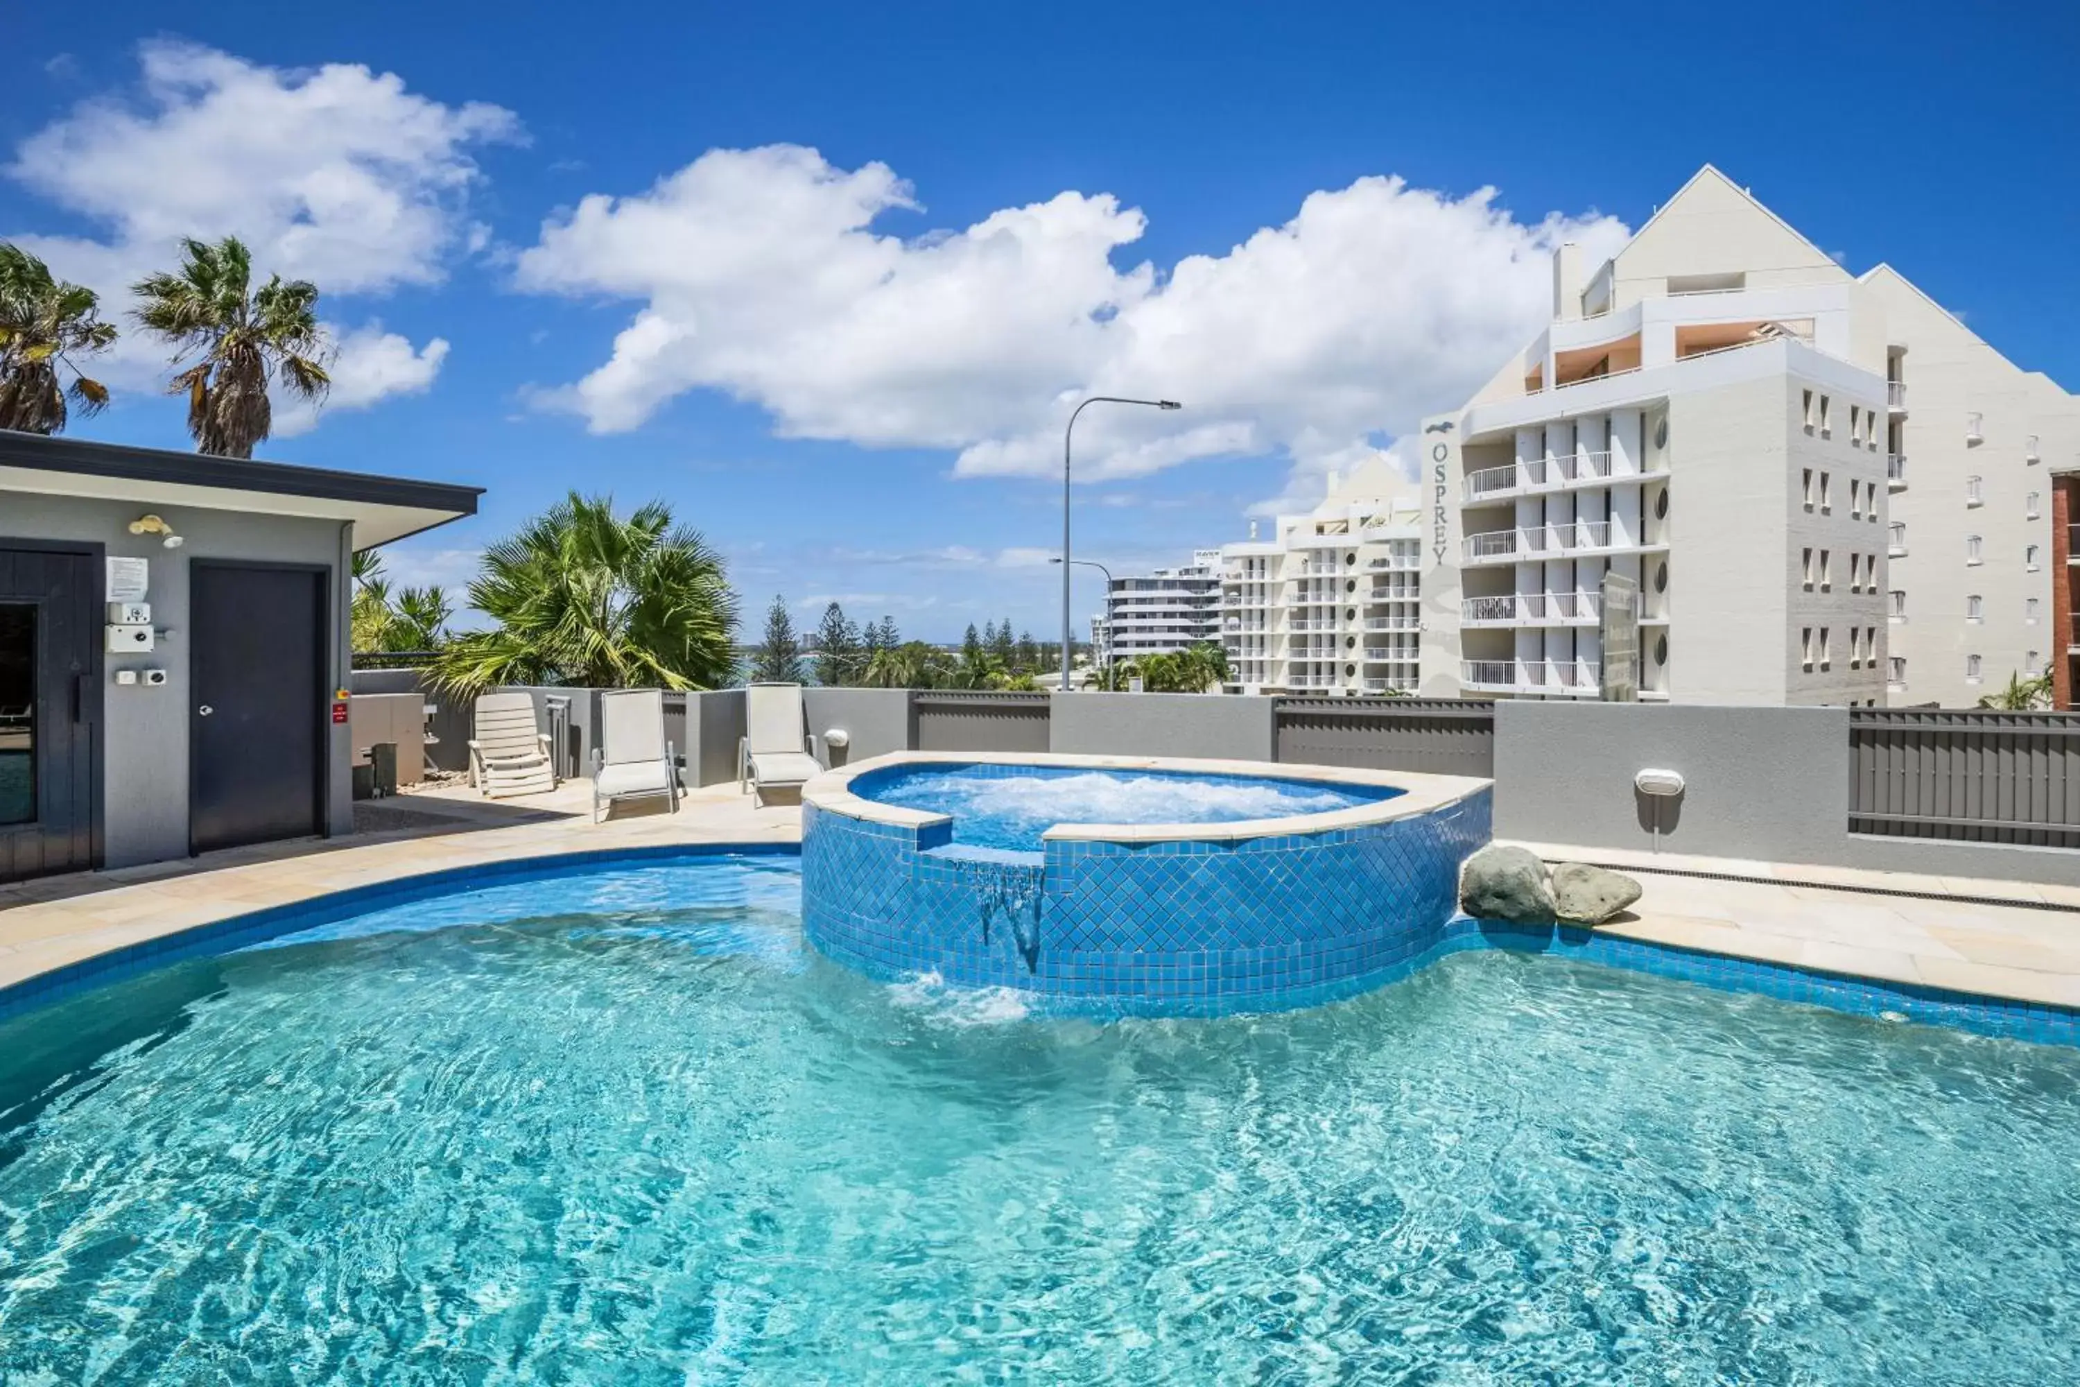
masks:
<svg viewBox="0 0 2080 1387"><path fill-rule="evenodd" d="M327 295L439 283L478 233L466 220L480 173L470 150L522 139L499 106L412 94L360 64L275 69L154 40L133 91L102 94L23 139L4 173L87 218L96 235L0 233L102 295L123 320L129 285L179 262L181 237L235 235L262 274ZM424 391L447 343L414 347L376 324L333 326L333 405ZM164 349L127 331L102 374L127 389L164 376ZM283 405L279 433L314 418Z"/></svg>

